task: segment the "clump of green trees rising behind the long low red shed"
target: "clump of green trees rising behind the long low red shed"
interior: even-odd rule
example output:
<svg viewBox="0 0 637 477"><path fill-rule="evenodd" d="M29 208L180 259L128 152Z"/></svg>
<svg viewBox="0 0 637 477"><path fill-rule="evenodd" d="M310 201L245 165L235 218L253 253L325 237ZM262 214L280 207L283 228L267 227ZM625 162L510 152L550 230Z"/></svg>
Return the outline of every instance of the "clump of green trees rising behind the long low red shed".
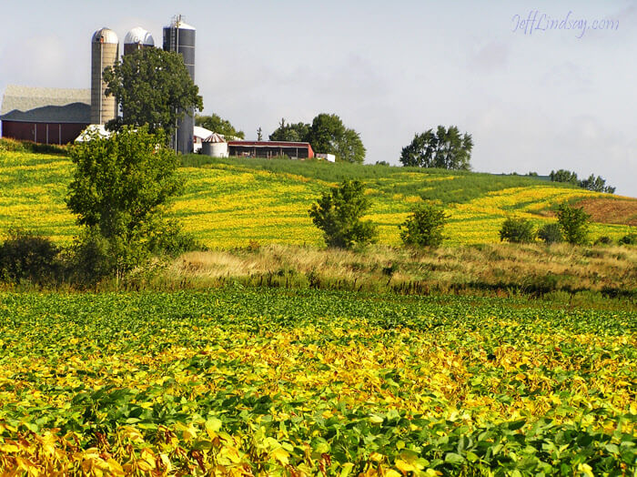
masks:
<svg viewBox="0 0 637 477"><path fill-rule="evenodd" d="M354 129L345 127L340 117L321 113L312 124L286 124L281 119L277 129L270 134L271 141L308 142L315 152L333 154L337 161L362 164L367 150Z"/></svg>

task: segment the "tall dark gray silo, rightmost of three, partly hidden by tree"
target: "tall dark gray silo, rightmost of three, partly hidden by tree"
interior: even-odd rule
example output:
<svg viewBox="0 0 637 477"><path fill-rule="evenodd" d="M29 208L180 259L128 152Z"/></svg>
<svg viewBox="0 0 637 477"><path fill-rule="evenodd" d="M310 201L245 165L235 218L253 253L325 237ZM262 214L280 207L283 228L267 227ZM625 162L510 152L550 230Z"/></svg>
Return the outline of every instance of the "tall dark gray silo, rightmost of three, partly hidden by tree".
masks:
<svg viewBox="0 0 637 477"><path fill-rule="evenodd" d="M182 21L181 15L173 18L169 26L164 27L164 50L176 51L184 58L184 65L195 81L195 27ZM189 110L177 124L177 133L173 137L175 149L182 154L193 152L193 127L195 111Z"/></svg>

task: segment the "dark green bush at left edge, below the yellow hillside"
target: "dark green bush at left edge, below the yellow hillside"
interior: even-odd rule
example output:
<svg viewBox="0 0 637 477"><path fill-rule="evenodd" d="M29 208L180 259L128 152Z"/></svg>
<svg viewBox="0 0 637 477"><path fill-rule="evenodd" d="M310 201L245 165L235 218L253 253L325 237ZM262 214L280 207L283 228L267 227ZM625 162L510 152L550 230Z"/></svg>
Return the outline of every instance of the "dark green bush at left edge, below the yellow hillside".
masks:
<svg viewBox="0 0 637 477"><path fill-rule="evenodd" d="M38 285L55 281L62 272L59 253L48 238L22 229L9 230L9 239L0 245L0 278Z"/></svg>

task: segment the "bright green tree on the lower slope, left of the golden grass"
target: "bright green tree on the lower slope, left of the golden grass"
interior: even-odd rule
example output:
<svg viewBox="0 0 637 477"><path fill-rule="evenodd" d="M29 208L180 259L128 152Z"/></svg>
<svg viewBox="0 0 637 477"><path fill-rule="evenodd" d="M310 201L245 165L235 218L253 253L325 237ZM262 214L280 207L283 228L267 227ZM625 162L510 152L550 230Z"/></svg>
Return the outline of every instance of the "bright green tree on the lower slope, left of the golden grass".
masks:
<svg viewBox="0 0 637 477"><path fill-rule="evenodd" d="M178 233L164 217L181 189L177 156L159 131L122 127L111 137L95 135L71 149L76 165L66 206L87 237L104 239L119 278L149 256L162 234Z"/></svg>

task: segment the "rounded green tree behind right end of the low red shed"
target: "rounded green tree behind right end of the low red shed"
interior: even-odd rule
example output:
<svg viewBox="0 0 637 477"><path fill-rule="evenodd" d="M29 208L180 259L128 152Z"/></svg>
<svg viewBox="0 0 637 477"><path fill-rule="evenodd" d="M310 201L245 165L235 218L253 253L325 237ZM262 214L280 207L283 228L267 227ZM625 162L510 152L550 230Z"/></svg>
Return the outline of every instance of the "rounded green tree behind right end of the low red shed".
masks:
<svg viewBox="0 0 637 477"><path fill-rule="evenodd" d="M360 135L343 125L337 115L319 114L312 121L308 142L316 152L333 154L337 161L362 164L366 149Z"/></svg>

